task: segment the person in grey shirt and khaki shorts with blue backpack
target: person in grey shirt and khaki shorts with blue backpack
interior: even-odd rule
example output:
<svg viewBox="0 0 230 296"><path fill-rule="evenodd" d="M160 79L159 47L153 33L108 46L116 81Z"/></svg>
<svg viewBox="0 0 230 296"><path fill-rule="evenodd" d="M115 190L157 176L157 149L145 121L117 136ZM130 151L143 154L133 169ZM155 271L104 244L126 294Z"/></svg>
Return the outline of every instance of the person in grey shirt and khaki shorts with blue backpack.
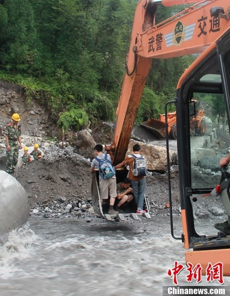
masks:
<svg viewBox="0 0 230 296"><path fill-rule="evenodd" d="M94 147L95 157L92 161L89 171L94 172L94 169L99 170L99 190L101 203L103 199L108 199L110 195L110 208L109 214L117 214L118 211L114 210L114 203L116 198L116 176L115 168L111 163L111 157L109 154L103 153L103 146L97 144Z"/></svg>

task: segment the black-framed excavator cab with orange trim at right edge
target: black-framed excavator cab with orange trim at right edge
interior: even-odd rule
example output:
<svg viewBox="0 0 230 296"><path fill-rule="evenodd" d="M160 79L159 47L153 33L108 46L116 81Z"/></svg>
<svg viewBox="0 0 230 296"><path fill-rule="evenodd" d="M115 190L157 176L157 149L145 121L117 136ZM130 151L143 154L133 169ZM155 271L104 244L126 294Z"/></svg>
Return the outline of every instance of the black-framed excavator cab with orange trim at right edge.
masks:
<svg viewBox="0 0 230 296"><path fill-rule="evenodd" d="M205 132L194 132L199 126L191 124L191 97L204 106ZM230 233L216 229L215 222L200 227L202 217L218 215L217 203L219 221L228 220L230 213L230 174L220 168L220 159L230 152L230 30L182 75L174 103L183 234L176 237L172 228L172 235L191 249L185 254L187 264L201 264L204 274L209 263L222 262L224 275L230 276ZM219 184L222 192L213 194Z"/></svg>

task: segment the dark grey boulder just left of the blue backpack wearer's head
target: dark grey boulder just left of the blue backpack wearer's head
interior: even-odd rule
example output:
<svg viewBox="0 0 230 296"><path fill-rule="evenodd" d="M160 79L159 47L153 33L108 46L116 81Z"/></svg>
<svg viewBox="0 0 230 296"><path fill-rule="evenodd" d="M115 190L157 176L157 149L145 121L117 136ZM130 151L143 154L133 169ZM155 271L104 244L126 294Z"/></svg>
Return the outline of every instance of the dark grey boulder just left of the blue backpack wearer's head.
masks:
<svg viewBox="0 0 230 296"><path fill-rule="evenodd" d="M77 142L74 148L74 153L80 154L85 158L93 159L94 146L96 142L93 140L88 130L82 130L77 134Z"/></svg>

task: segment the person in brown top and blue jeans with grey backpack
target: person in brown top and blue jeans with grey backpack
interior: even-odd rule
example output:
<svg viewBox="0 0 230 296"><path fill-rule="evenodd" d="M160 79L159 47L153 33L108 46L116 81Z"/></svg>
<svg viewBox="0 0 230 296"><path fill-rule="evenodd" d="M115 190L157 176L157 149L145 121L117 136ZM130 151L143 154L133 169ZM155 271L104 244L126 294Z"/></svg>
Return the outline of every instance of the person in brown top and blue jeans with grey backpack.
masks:
<svg viewBox="0 0 230 296"><path fill-rule="evenodd" d="M129 165L128 178L131 181L133 195L137 205L136 214L144 214L143 210L146 187L146 163L144 156L141 155L141 146L135 144L133 146L133 154L129 154L125 159L115 166L115 169Z"/></svg>

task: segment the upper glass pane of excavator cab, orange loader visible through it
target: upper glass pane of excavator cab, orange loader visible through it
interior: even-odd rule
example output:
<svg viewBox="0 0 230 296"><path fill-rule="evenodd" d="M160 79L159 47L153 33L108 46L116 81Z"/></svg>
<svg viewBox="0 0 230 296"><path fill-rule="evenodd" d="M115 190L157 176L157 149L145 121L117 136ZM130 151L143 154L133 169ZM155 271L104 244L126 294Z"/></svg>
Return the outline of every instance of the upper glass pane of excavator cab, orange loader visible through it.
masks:
<svg viewBox="0 0 230 296"><path fill-rule="evenodd" d="M221 178L220 158L230 146L223 94L196 93L199 109L190 123L191 185L215 187ZM203 108L202 108L203 106Z"/></svg>

